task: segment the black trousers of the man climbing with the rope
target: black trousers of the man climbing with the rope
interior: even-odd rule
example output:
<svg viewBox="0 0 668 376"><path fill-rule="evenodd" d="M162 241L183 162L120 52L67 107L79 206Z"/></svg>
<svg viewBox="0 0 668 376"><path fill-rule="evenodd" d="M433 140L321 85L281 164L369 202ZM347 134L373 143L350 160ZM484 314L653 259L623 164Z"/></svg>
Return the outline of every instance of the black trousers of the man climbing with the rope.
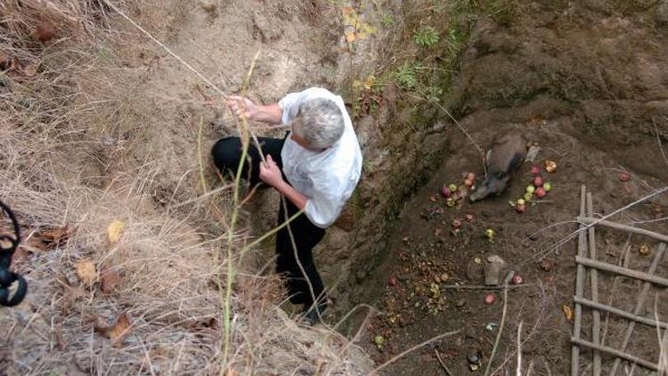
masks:
<svg viewBox="0 0 668 376"><path fill-rule="evenodd" d="M271 155L276 164L282 168L281 149L283 148L283 142L285 140L259 137L257 141L260 143L262 153L264 155ZM222 173L228 171L231 171L232 174L236 173L241 157L241 143L239 137L226 137L219 140L211 150L211 154L213 155L216 168ZM260 183L259 174L261 159L255 144L252 142L248 147L248 158L246 160L242 170L242 176L247 177L251 185ZM283 179L285 179L285 176L283 176ZM278 217L279 225L299 211L289 200L286 199L285 202L288 207L288 217L285 217L281 202ZM314 295L311 294L308 283L305 281L304 274L302 274L302 271L297 264L287 226L283 227L276 234L276 254L278 256L276 261L276 271L279 274L286 274L287 276L290 302L293 304L305 304L306 307L310 307L314 303L314 296L315 298L323 298L324 285L322 284L322 278L320 277L320 274L318 274L318 270L315 268L313 249L320 241L322 241L322 238L325 235L325 230L312 224L305 214L301 214L299 217L295 218L295 220L290 222L289 226L292 230L295 246L297 247L299 263L304 267L308 281L311 282L311 286L314 289Z"/></svg>

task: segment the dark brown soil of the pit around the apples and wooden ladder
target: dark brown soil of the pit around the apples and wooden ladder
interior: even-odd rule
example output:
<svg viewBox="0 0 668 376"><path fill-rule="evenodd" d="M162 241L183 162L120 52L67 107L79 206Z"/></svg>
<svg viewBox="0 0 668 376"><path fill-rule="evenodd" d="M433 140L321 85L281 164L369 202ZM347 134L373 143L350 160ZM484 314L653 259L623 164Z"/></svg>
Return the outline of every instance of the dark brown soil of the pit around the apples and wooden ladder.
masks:
<svg viewBox="0 0 668 376"><path fill-rule="evenodd" d="M533 4L513 29L481 21L474 30L451 97L462 126L482 146L517 129L541 147L536 164L552 159L558 170L550 174L543 169L552 192L527 205L524 214L508 201L521 198L530 184L530 163L517 171L501 197L476 204L462 200L448 208L439 194L441 184L462 184L469 171L483 174L476 148L460 129L450 127L440 168L405 203L386 260L355 289L353 303L370 303L381 311L363 331L363 343L379 363L438 334L459 332L403 357L386 374L445 374L436 351L455 375L470 372L470 355L480 356L484 369L499 332L495 324L501 323L502 291L444 286L482 284L476 258L485 263L491 255L502 257L508 270L525 280L523 287L509 290L493 373L517 367L520 323L525 370L533 364L534 374L570 372L573 323L564 306L573 307L577 238L562 241L577 229L573 221L581 184L593 193L597 216L603 216L668 183L668 159L663 157L668 135L665 34L648 27L648 17L655 13L622 14L591 3ZM629 182L620 181L622 172L631 175ZM664 194L613 219L643 222L666 233L666 205ZM455 220L462 223L459 231L453 228ZM496 233L493 242L485 239L487 228ZM617 231L597 229L596 239L599 260L616 265L626 255L625 262L636 270L647 271L656 252L656 241ZM643 245L651 249L648 255L639 253ZM668 276L665 262L656 274ZM611 274L599 273L599 299L615 307L632 311L640 287L637 281L614 282ZM588 282L585 297L589 291ZM484 302L489 292L496 297L492 305ZM665 315L665 298L664 290L650 290L641 315ZM591 310L582 312L582 336L591 339ZM627 322L602 317L606 345L620 347ZM656 363L656 330L640 326L628 348ZM384 339L382 346L374 344L376 336ZM604 372L612 363L603 357ZM591 351L582 350L581 369L591 374ZM639 369L635 374L648 373Z"/></svg>

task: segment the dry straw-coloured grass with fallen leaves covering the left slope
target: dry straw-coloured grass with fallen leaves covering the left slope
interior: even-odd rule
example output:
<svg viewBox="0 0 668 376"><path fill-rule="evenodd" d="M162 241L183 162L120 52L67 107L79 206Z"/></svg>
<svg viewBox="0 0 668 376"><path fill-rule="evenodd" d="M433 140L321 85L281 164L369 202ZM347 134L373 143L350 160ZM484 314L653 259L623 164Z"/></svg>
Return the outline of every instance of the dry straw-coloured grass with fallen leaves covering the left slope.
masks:
<svg viewBox="0 0 668 376"><path fill-rule="evenodd" d="M193 193L179 200L201 193L198 179L158 195L160 161L127 161L143 127L160 125L120 127L134 119L126 104L136 93L116 53L142 39L103 4L0 4L0 199L20 218L12 267L29 282L20 306L0 308L0 370L361 373L346 339L289 320L276 307L280 283L251 267L232 285L224 364L224 271L241 267L222 252L231 202L220 194L170 208L183 184ZM114 4L137 14L160 6ZM232 248L246 240L237 229Z"/></svg>

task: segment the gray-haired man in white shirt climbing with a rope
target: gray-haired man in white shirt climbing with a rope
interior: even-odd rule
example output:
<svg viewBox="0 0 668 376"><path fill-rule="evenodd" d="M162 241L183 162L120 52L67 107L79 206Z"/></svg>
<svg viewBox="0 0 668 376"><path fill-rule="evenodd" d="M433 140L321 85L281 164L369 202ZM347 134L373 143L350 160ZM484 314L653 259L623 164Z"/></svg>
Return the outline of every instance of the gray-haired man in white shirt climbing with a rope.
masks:
<svg viewBox="0 0 668 376"><path fill-rule="evenodd" d="M308 283L287 227L276 235L276 269L287 276L290 302L304 305L305 320L314 324L327 308L327 299L312 251L341 213L362 172L362 152L353 123L341 97L319 87L288 94L269 105L239 96L230 96L228 104L240 118L291 127L283 140L259 138L262 151L251 143L242 174L250 184L262 180L281 193L287 199L287 217L304 210L289 226ZM266 163L258 152L265 155ZM238 137L224 138L212 150L221 171L236 171L240 153ZM279 224L287 217L281 204Z"/></svg>

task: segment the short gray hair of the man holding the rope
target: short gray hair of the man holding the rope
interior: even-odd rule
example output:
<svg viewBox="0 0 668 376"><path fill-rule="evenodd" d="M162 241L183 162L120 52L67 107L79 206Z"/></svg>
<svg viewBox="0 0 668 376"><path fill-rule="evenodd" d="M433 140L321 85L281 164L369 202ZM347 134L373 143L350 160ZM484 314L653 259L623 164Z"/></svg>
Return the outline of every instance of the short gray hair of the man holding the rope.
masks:
<svg viewBox="0 0 668 376"><path fill-rule="evenodd" d="M313 148L328 148L336 143L346 127L336 102L314 98L299 105L294 131Z"/></svg>

